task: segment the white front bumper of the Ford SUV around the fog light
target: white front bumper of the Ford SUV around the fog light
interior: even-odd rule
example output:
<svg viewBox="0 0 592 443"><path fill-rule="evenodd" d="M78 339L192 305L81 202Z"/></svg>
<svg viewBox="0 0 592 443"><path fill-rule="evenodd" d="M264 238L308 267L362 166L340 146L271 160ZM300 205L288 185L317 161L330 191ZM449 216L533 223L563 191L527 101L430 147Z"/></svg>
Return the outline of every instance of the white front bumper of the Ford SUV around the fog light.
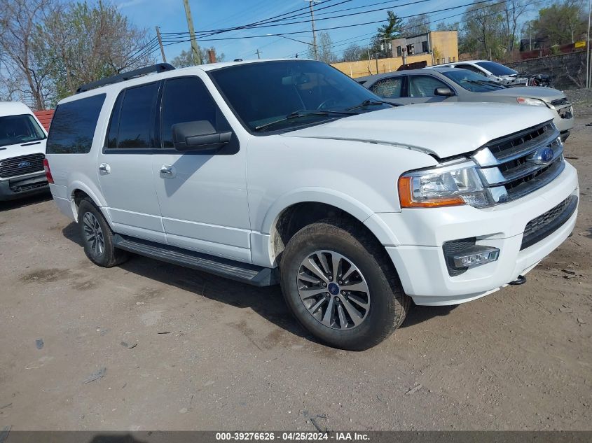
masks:
<svg viewBox="0 0 592 443"><path fill-rule="evenodd" d="M392 231L398 244L385 244L405 292L416 304L468 302L498 290L535 267L572 232L577 211L557 230L521 251L523 232L570 195L579 197L577 172L570 164L544 188L489 209L471 206L404 209L373 217ZM500 249L497 261L450 276L442 250L445 241L476 237L476 244Z"/></svg>

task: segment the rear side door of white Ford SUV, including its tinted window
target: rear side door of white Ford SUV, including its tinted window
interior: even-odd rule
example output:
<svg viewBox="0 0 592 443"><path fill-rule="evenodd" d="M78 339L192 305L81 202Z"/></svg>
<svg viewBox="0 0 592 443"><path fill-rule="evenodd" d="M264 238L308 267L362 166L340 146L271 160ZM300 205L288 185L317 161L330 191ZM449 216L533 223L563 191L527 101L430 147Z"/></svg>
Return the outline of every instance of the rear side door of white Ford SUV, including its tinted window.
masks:
<svg viewBox="0 0 592 443"><path fill-rule="evenodd" d="M113 230L165 243L152 168L153 151L160 149L156 127L160 85L128 87L118 95L97 172Z"/></svg>

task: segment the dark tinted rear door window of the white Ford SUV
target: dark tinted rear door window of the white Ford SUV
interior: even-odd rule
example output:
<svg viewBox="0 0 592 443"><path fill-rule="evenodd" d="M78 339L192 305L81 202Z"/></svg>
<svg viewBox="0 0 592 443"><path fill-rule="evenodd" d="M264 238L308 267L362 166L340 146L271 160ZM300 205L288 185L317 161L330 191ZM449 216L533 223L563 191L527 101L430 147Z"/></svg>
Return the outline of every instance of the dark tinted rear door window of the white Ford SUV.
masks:
<svg viewBox="0 0 592 443"><path fill-rule="evenodd" d="M155 111L159 83L130 87L119 95L113 107L108 148L156 148Z"/></svg>

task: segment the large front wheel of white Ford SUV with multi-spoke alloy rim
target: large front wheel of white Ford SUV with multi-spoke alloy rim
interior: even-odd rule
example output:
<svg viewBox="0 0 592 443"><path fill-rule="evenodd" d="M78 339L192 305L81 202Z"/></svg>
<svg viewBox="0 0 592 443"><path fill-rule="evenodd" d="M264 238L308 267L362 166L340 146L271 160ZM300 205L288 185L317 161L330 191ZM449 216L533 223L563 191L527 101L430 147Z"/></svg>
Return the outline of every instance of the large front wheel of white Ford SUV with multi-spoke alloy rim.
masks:
<svg viewBox="0 0 592 443"><path fill-rule="evenodd" d="M321 220L296 232L282 254L280 280L284 299L301 325L340 349L364 351L383 342L411 307L383 246L346 220Z"/></svg>

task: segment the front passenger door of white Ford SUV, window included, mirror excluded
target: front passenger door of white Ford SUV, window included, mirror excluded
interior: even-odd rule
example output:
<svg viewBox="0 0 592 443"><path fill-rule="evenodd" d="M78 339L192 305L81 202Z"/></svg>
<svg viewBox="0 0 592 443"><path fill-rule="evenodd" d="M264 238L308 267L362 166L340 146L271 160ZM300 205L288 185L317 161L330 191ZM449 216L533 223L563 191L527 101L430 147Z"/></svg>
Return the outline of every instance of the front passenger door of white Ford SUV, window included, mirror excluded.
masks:
<svg viewBox="0 0 592 443"><path fill-rule="evenodd" d="M215 132L232 130L203 81L196 76L163 83L160 138L153 174L167 242L249 262L246 146L236 134L218 150L174 150L172 125L208 122Z"/></svg>

